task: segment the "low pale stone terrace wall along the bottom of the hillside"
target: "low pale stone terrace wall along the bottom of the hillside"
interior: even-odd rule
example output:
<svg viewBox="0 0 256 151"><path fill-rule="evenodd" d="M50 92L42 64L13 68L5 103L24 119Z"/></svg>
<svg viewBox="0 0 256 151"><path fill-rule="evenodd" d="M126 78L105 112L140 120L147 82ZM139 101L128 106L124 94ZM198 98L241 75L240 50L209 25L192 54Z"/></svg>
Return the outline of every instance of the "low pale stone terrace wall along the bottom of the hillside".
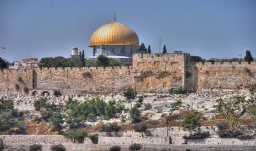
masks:
<svg viewBox="0 0 256 151"><path fill-rule="evenodd" d="M168 144L168 137L149 137L139 140L134 137L100 137L99 144L74 144L64 136L42 135L9 135L4 137L4 144L9 147L28 148L34 143L40 143L43 150L50 150L53 144L63 144L67 150L109 150L111 146L120 146L122 150L128 150L131 143L141 143L141 150L255 150L256 140L238 140L230 138L206 138L202 140L190 140L188 144ZM112 142L111 142L112 141ZM113 142L114 141L114 142ZM132 142L133 141L133 142Z"/></svg>

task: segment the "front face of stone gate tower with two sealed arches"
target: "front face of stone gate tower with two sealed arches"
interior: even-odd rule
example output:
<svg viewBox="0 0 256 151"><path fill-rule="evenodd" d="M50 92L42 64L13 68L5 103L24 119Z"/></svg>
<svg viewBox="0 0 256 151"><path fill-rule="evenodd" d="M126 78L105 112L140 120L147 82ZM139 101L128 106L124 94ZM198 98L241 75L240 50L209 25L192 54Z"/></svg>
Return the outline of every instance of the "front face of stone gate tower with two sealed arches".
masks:
<svg viewBox="0 0 256 151"><path fill-rule="evenodd" d="M134 54L133 88L139 92L184 86L189 54Z"/></svg>

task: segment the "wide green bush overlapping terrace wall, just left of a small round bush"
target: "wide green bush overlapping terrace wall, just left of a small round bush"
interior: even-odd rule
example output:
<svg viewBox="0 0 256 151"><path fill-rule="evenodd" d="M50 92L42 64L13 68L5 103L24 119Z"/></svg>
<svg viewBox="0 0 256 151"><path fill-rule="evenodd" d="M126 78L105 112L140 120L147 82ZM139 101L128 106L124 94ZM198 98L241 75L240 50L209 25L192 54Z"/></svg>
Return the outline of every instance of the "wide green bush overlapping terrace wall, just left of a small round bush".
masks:
<svg viewBox="0 0 256 151"><path fill-rule="evenodd" d="M77 129L68 131L65 136L69 139L73 139L74 143L83 143L88 133L85 130Z"/></svg>

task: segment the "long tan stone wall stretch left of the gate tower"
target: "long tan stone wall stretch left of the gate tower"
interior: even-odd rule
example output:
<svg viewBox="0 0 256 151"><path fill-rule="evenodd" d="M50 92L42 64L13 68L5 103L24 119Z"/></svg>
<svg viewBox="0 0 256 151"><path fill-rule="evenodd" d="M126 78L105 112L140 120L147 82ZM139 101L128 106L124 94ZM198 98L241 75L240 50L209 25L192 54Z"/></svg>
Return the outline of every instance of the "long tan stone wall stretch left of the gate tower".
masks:
<svg viewBox="0 0 256 151"><path fill-rule="evenodd" d="M131 71L131 67L8 69L0 72L0 92L38 96L54 95L57 91L75 96L118 93L132 87Z"/></svg>

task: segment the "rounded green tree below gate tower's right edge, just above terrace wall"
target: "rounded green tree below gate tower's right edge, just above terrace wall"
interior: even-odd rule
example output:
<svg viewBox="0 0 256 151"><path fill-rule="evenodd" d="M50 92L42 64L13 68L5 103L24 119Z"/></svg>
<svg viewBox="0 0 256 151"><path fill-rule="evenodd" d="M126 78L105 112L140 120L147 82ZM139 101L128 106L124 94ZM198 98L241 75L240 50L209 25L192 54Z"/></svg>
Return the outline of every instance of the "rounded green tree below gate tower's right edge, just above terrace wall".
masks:
<svg viewBox="0 0 256 151"><path fill-rule="evenodd" d="M179 126L181 126L183 130L189 131L191 134L193 130L201 127L201 124L199 123L199 119L195 116L195 114L187 114L182 119L182 122Z"/></svg>

